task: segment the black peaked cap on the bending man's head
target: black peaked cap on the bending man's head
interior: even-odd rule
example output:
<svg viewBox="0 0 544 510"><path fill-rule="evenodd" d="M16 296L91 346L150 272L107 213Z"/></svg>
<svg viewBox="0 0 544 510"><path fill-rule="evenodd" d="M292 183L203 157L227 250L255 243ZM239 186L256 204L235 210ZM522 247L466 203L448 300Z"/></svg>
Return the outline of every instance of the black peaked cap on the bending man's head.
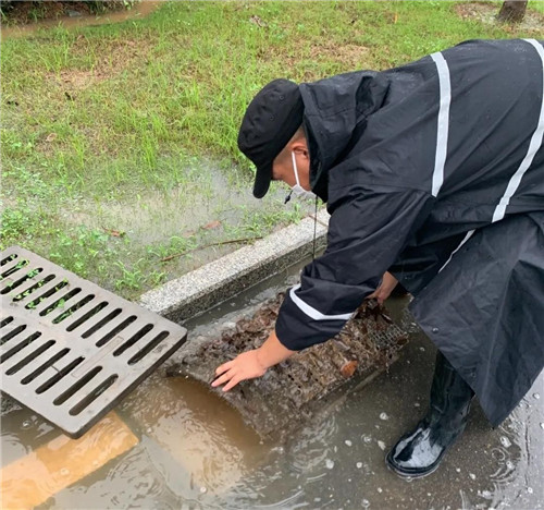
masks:
<svg viewBox="0 0 544 510"><path fill-rule="evenodd" d="M274 80L249 104L238 133L239 149L255 163L254 196L262 198L272 180L272 162L302 124L298 85Z"/></svg>

